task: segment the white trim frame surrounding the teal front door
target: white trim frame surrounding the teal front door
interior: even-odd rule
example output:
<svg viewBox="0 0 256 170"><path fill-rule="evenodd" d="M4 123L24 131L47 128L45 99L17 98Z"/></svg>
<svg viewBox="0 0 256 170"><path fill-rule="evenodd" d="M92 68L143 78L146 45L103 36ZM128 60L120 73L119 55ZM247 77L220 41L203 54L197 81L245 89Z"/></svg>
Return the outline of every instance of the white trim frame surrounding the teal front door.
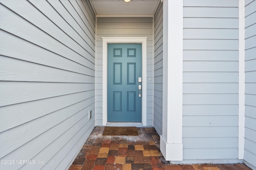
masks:
<svg viewBox="0 0 256 170"><path fill-rule="evenodd" d="M147 125L147 38L148 37L101 37L102 38L102 126L107 124L108 112L108 44L142 44L142 125Z"/></svg>

